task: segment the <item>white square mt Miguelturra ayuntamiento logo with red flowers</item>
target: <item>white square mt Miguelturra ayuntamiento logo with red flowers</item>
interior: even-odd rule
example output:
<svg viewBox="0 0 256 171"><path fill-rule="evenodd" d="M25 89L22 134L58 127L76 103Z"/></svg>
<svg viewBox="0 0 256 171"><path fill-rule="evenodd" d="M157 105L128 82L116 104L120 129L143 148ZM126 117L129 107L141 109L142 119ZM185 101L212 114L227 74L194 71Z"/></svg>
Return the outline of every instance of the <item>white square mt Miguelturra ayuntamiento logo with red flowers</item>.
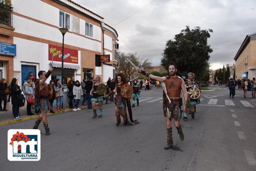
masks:
<svg viewBox="0 0 256 171"><path fill-rule="evenodd" d="M40 131L38 129L9 129L8 160L39 161Z"/></svg>

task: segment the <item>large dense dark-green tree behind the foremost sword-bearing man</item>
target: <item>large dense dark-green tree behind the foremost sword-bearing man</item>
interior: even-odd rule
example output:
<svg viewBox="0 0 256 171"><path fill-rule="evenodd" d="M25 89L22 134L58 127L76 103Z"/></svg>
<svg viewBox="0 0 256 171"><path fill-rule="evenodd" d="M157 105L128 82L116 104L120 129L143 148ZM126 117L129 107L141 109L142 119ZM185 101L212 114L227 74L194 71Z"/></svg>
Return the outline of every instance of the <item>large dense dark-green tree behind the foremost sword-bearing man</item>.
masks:
<svg viewBox="0 0 256 171"><path fill-rule="evenodd" d="M210 32L213 30L201 30L200 27L190 29L186 26L173 40L167 41L161 65L168 69L168 64L173 61L182 75L192 72L197 79L201 79L210 68L209 54L213 52L210 45L207 45Z"/></svg>

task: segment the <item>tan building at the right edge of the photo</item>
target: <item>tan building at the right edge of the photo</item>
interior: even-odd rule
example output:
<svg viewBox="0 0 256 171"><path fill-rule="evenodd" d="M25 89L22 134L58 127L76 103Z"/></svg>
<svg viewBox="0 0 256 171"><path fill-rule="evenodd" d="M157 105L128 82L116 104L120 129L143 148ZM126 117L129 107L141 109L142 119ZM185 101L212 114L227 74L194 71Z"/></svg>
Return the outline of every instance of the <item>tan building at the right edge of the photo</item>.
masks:
<svg viewBox="0 0 256 171"><path fill-rule="evenodd" d="M234 60L236 79L256 77L256 33L245 37Z"/></svg>

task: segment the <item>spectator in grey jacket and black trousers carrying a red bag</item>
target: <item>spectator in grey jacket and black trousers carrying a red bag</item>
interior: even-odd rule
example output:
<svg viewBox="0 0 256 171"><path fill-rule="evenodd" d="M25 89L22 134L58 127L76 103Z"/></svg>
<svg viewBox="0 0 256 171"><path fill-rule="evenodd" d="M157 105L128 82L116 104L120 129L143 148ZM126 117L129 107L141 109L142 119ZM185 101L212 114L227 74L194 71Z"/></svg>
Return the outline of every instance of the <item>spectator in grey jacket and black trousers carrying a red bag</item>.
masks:
<svg viewBox="0 0 256 171"><path fill-rule="evenodd" d="M31 112L31 106L32 103L28 102L28 98L31 96L34 97L34 82L31 79L28 79L27 82L23 84L24 87L24 94L26 95L26 101L27 101L27 115L34 115L34 113Z"/></svg>

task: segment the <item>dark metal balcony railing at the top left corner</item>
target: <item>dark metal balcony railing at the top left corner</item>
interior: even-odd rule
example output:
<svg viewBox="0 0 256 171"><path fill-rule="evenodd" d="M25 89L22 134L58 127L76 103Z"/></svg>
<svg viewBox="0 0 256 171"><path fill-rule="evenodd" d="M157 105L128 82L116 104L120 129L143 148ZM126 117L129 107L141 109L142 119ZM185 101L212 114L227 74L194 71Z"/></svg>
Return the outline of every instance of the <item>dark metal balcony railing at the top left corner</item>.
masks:
<svg viewBox="0 0 256 171"><path fill-rule="evenodd" d="M12 27L12 7L0 3L0 24Z"/></svg>

